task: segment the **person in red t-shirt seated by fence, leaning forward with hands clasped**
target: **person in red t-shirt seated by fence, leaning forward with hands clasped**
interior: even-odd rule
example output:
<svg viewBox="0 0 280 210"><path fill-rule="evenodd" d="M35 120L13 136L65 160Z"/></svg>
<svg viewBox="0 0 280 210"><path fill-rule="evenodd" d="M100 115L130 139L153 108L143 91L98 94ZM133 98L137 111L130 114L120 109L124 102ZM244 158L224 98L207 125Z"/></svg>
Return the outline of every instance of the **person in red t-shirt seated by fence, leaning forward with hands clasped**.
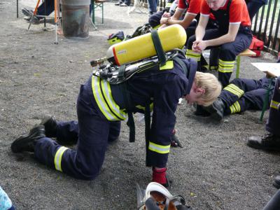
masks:
<svg viewBox="0 0 280 210"><path fill-rule="evenodd" d="M211 13L218 22L218 29L206 29ZM251 20L245 1L203 0L195 35L188 38L187 57L197 60L200 66L203 50L220 47L218 79L225 87L235 66L235 57L251 44L250 28Z"/></svg>

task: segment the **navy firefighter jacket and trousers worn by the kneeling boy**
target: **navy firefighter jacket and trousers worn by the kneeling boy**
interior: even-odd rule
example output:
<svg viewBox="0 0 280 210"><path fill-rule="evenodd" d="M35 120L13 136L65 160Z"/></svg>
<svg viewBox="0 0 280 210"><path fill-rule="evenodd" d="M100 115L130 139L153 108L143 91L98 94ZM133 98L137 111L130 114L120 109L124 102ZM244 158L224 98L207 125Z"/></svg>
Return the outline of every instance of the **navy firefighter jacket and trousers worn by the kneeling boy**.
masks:
<svg viewBox="0 0 280 210"><path fill-rule="evenodd" d="M127 80L132 112L143 113L153 103L153 121L148 135L147 157L152 167L166 167L172 131L176 123L175 111L179 99L190 92L195 78L196 64L181 55L190 67L186 76L181 66L172 62L170 69L136 73ZM77 100L78 123L62 122L57 127L57 141L76 142L76 150L60 146L44 137L35 144L34 155L45 165L77 179L94 179L104 162L109 141L120 134L120 120L125 120L123 93L119 85L91 76L81 85ZM66 144L65 144L66 145Z"/></svg>

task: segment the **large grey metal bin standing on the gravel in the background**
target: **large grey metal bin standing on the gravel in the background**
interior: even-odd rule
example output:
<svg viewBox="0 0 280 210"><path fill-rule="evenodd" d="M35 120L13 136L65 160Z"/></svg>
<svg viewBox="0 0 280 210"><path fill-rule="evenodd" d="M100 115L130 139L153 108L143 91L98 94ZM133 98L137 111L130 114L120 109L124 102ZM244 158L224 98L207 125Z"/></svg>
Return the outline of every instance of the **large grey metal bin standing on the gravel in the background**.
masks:
<svg viewBox="0 0 280 210"><path fill-rule="evenodd" d="M89 37L90 0L62 0L62 30L66 38Z"/></svg>

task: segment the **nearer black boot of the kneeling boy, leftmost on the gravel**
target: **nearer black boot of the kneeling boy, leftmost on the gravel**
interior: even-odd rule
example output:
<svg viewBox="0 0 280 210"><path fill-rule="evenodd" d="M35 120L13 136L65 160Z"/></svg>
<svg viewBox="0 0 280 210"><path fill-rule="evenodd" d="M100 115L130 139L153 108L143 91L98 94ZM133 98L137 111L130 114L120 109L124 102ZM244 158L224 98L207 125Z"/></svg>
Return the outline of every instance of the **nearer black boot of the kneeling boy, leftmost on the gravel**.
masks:
<svg viewBox="0 0 280 210"><path fill-rule="evenodd" d="M33 127L29 134L25 134L15 139L11 145L13 153L21 153L23 151L34 152L34 146L38 139L45 137L45 129L43 125Z"/></svg>

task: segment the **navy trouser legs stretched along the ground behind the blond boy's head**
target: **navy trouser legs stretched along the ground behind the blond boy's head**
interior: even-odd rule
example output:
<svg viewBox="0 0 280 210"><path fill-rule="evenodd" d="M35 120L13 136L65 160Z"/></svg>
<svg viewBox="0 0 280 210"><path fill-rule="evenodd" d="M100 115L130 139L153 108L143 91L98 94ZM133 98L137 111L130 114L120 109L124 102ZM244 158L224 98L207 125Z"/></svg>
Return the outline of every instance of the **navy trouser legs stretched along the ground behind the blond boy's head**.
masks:
<svg viewBox="0 0 280 210"><path fill-rule="evenodd" d="M230 85L225 87L219 98L225 104L224 114L244 112L247 109L261 110L266 100L269 78L260 80L235 78ZM275 80L269 91L269 102L272 99Z"/></svg>

